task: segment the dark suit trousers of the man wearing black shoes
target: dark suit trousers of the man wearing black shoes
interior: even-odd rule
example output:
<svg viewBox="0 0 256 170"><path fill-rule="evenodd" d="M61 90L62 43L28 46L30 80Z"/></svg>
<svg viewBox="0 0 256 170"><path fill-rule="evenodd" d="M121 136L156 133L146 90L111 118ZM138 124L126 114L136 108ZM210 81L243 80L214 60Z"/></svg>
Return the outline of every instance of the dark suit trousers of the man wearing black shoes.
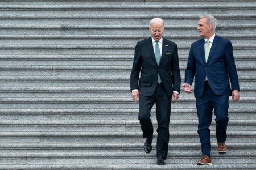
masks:
<svg viewBox="0 0 256 170"><path fill-rule="evenodd" d="M143 132L143 138L153 136L153 125L150 111L153 105L156 105L156 120L158 122L156 156L167 158L169 145L169 124L171 115L171 99L164 90L163 84L158 84L152 96L139 96L139 122Z"/></svg>

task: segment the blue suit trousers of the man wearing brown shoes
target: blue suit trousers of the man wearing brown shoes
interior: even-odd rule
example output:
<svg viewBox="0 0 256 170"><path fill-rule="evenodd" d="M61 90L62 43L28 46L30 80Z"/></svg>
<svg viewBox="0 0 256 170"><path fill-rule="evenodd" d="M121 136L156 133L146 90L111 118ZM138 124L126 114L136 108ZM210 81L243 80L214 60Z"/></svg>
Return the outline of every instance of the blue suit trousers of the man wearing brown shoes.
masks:
<svg viewBox="0 0 256 170"><path fill-rule="evenodd" d="M204 93L201 97L196 98L196 109L199 120L198 131L201 143L202 155L210 156L210 129L212 123L212 111L216 116L216 139L217 142L225 142L228 126L228 108L229 96L217 95L209 85L205 85Z"/></svg>

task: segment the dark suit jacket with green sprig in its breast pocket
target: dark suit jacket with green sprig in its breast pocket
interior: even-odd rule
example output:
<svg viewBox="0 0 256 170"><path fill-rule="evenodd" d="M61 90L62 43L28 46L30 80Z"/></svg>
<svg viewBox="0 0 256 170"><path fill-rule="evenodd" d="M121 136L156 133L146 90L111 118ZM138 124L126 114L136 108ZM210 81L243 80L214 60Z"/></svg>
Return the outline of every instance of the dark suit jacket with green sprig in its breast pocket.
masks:
<svg viewBox="0 0 256 170"><path fill-rule="evenodd" d="M180 93L181 78L177 45L163 38L162 57L158 66L151 37L139 41L135 47L130 75L131 90L138 89L139 95L143 96L153 95L158 81L158 73L170 99L173 91Z"/></svg>

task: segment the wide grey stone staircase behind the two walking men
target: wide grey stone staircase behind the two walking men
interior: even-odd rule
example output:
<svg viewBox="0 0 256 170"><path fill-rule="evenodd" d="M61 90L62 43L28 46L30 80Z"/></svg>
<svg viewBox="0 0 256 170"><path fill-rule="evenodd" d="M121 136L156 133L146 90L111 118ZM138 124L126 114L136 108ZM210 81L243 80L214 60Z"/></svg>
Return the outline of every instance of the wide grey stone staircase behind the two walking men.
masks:
<svg viewBox="0 0 256 170"><path fill-rule="evenodd" d="M256 169L255 1L0 2L0 169ZM230 100L228 152L198 166L195 99L172 104L167 165L150 154L130 94L137 41L148 22L165 20L177 43L181 78L201 14L218 19L233 43L241 99ZM155 111L152 120L156 128ZM214 118L213 118L214 120ZM156 137L156 133L154 134Z"/></svg>

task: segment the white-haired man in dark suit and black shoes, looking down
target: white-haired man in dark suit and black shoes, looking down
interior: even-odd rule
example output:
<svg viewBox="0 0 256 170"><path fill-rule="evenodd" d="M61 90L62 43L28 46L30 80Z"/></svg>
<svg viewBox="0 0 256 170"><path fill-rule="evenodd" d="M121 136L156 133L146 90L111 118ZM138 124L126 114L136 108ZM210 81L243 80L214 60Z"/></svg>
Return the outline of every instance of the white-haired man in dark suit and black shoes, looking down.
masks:
<svg viewBox="0 0 256 170"><path fill-rule="evenodd" d="M162 37L164 21L150 21L151 37L139 41L135 47L131 70L131 96L139 97L139 122L143 132L144 151L152 150L153 125L150 111L156 104L158 137L156 141L157 164L163 165L168 153L171 101L177 101L180 93L180 69L177 45ZM141 76L139 78L139 74Z"/></svg>

